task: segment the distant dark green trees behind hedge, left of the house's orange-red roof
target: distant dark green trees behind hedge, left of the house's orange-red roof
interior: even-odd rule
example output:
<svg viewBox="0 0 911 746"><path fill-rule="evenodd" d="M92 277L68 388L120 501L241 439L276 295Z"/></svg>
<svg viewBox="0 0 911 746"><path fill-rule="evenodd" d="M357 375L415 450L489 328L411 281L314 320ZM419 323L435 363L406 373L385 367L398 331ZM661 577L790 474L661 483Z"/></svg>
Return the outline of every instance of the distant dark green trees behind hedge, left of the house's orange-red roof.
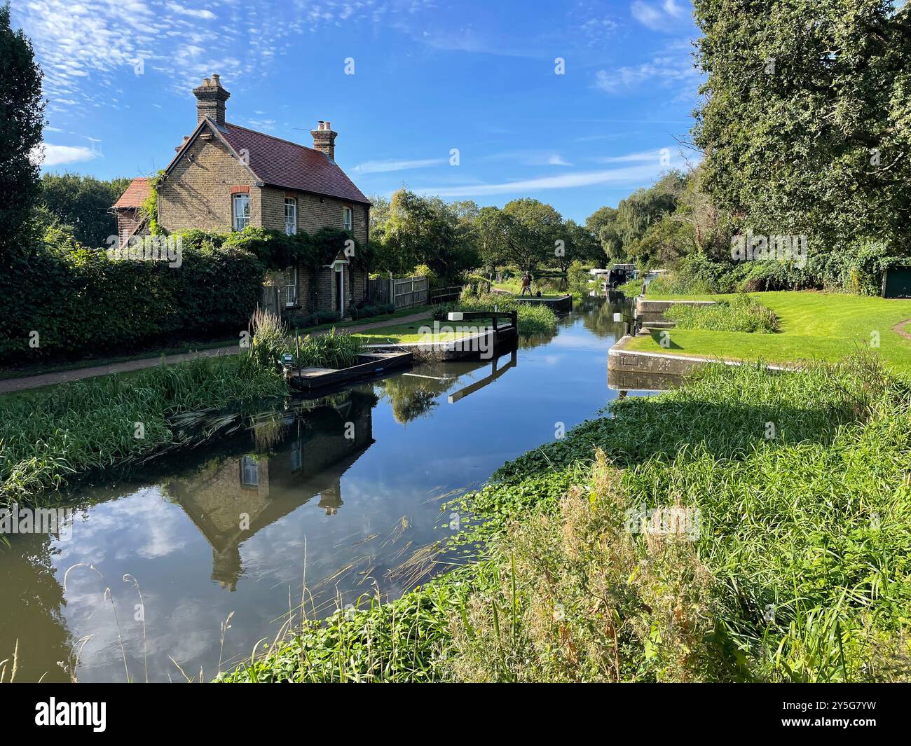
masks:
<svg viewBox="0 0 911 746"><path fill-rule="evenodd" d="M45 214L86 246L107 246L107 237L117 234L117 220L110 207L127 189L129 179L101 181L79 174L45 174L41 179L41 205Z"/></svg>

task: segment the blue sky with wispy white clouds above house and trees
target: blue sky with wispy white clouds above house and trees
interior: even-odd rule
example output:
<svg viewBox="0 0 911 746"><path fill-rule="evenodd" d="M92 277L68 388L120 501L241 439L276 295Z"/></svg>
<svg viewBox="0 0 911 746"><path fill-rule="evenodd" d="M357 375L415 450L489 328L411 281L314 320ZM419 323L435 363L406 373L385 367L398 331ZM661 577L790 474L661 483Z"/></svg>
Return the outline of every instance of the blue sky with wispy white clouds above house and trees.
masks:
<svg viewBox="0 0 911 746"><path fill-rule="evenodd" d="M44 168L103 179L165 167L216 72L230 122L311 145L330 120L365 194L584 220L685 165L701 81L689 0L13 0L12 20L45 70Z"/></svg>

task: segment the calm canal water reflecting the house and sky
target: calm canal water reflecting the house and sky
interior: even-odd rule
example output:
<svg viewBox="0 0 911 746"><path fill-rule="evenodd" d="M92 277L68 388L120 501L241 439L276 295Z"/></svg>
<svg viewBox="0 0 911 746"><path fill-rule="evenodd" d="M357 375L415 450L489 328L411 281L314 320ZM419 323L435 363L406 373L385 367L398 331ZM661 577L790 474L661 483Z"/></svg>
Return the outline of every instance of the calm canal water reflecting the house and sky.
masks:
<svg viewBox="0 0 911 746"><path fill-rule="evenodd" d="M0 659L18 641L19 681L208 680L302 598L325 616L445 570L425 550L454 530L441 503L618 395L619 310L586 299L495 363L273 404L80 489L67 536L0 545Z"/></svg>

